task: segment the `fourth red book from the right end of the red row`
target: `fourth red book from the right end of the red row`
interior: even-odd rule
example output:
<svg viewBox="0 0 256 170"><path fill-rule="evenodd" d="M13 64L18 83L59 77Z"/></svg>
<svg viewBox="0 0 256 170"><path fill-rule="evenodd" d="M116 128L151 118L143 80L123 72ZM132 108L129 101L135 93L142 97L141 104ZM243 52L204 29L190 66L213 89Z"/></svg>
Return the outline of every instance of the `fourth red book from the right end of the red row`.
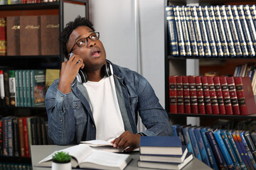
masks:
<svg viewBox="0 0 256 170"><path fill-rule="evenodd" d="M222 94L221 86L220 86L220 77L213 77L213 83L214 83L214 87L215 87L215 93L217 96L220 115L225 115L225 106L224 106L223 94Z"/></svg>

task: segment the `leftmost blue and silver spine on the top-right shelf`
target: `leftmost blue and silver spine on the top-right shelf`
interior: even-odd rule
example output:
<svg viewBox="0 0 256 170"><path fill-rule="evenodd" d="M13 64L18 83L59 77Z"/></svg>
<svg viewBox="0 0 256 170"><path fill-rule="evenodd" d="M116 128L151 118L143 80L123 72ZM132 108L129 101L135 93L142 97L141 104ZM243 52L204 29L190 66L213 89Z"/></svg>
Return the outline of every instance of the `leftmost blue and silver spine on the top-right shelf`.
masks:
<svg viewBox="0 0 256 170"><path fill-rule="evenodd" d="M166 20L168 26L170 54L173 56L178 55L178 40L177 31L174 19L174 6L166 6Z"/></svg>

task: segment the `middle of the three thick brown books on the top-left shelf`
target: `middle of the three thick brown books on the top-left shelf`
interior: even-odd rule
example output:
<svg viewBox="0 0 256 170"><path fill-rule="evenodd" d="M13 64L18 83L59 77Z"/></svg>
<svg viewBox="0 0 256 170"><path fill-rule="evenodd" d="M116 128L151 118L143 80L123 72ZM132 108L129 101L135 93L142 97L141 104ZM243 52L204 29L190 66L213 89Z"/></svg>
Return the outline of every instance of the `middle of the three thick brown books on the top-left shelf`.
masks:
<svg viewBox="0 0 256 170"><path fill-rule="evenodd" d="M21 55L41 55L40 16L20 16Z"/></svg>

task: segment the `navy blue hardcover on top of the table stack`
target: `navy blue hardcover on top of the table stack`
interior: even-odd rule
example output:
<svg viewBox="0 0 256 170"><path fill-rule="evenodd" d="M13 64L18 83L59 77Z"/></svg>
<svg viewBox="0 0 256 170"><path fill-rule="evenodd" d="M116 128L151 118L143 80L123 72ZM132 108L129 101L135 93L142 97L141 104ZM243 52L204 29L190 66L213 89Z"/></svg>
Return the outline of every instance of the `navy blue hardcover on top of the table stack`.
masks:
<svg viewBox="0 0 256 170"><path fill-rule="evenodd" d="M142 136L140 154L183 154L181 139L174 136Z"/></svg>

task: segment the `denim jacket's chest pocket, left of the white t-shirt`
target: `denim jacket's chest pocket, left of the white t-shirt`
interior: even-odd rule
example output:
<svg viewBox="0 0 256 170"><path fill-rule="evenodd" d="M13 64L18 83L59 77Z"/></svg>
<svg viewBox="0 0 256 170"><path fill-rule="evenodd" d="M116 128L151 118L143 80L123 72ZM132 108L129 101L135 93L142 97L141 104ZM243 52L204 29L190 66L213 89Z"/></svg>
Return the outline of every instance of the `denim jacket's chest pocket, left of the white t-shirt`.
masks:
<svg viewBox="0 0 256 170"><path fill-rule="evenodd" d="M75 124L80 124L87 121L85 108L82 105L81 101L73 101L73 110L75 114Z"/></svg>

